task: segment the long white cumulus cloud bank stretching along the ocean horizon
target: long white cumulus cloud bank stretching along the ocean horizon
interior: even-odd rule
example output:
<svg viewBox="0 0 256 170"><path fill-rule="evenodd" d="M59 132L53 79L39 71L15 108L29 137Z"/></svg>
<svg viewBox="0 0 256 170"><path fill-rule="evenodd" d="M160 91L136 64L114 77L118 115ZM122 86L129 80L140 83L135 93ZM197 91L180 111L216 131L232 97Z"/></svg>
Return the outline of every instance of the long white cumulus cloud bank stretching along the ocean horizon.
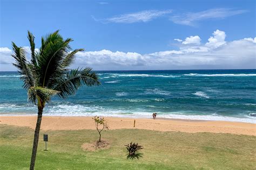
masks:
<svg viewBox="0 0 256 170"><path fill-rule="evenodd" d="M112 52L107 49L78 52L72 68L85 66L96 70L256 68L256 38L226 42L225 37L224 31L216 30L206 44L181 44L179 50L149 54ZM25 49L30 50L29 47ZM0 48L1 70L15 70L11 65L14 62L11 53L9 48Z"/></svg>

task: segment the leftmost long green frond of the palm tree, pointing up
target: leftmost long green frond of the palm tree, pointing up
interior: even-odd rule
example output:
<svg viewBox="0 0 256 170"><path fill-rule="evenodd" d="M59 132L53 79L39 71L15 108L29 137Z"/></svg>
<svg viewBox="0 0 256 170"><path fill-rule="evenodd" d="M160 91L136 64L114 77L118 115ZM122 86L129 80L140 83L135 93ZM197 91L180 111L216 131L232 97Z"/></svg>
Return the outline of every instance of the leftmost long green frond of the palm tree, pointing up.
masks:
<svg viewBox="0 0 256 170"><path fill-rule="evenodd" d="M18 47L14 42L12 42L12 49L14 51L12 57L15 59L15 63L13 63L13 65L17 67L18 72L21 75L21 80L23 80L24 83L23 87L25 89L29 89L35 85L35 81L31 73L31 67L28 66L29 63L26 60L25 50Z"/></svg>

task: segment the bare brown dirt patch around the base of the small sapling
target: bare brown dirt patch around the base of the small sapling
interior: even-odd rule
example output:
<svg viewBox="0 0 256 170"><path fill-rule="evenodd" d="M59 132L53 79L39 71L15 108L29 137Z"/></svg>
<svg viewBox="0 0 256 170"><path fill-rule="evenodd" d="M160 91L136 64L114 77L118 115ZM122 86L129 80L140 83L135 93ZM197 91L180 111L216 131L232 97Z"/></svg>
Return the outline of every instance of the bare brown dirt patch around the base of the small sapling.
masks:
<svg viewBox="0 0 256 170"><path fill-rule="evenodd" d="M81 148L84 151L93 151L93 152L95 152L95 151L106 150L106 149L110 148L110 143L107 142L106 140L95 141L93 143L83 143Z"/></svg>

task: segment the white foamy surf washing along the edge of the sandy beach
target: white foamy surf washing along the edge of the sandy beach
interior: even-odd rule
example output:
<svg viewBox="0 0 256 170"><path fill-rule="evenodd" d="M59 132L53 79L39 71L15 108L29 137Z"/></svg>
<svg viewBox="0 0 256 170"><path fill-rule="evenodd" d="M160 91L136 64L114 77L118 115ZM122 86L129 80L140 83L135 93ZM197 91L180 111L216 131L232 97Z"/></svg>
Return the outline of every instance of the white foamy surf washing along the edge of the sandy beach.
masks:
<svg viewBox="0 0 256 170"><path fill-rule="evenodd" d="M134 101L135 102L135 101ZM150 105L151 106L151 105ZM32 109L32 108L31 108ZM35 108L33 108L35 109ZM218 114L212 115L188 115L183 112L170 112L161 113L156 110L157 117L160 118L176 118L176 119L194 119L194 120L206 120L206 121L231 121L231 122L247 122L256 124L255 113L250 113L250 115L245 115L244 118L239 117L228 117L220 116ZM33 112L31 112L33 113ZM21 113L4 113L0 116L28 116L35 114L21 114ZM59 104L55 106L48 106L44 111L45 116L105 116L105 117L130 117L130 118L151 118L152 112L139 112L132 110L114 110L107 109L97 105L94 106L84 106L84 105L69 105L69 104Z"/></svg>

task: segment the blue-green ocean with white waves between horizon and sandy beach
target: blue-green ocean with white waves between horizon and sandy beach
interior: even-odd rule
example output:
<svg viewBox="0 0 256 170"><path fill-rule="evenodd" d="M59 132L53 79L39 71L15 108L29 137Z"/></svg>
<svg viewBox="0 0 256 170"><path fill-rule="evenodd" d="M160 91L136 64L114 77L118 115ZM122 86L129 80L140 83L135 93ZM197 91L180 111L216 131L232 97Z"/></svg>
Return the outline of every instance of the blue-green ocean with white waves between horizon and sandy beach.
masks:
<svg viewBox="0 0 256 170"><path fill-rule="evenodd" d="M53 98L46 116L114 116L256 123L256 70L101 71L102 85ZM36 115L17 72L0 72L0 115Z"/></svg>

